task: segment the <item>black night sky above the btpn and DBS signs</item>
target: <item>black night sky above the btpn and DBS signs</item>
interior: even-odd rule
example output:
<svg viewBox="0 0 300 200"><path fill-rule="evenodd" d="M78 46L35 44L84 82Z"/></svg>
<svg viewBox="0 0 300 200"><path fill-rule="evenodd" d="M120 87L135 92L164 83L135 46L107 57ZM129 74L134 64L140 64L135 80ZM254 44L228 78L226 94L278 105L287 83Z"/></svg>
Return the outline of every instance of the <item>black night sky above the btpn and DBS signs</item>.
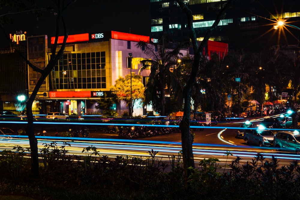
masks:
<svg viewBox="0 0 300 200"><path fill-rule="evenodd" d="M50 2L37 0L37 2ZM4 14L0 10L0 15ZM43 18L36 19L31 14L10 15L14 24L5 27L8 34L26 31L31 35L55 35L54 13L47 11ZM133 34L150 35L150 0L77 0L65 14L69 34L121 31ZM63 32L61 32L63 33ZM0 32L0 48L8 45Z"/></svg>

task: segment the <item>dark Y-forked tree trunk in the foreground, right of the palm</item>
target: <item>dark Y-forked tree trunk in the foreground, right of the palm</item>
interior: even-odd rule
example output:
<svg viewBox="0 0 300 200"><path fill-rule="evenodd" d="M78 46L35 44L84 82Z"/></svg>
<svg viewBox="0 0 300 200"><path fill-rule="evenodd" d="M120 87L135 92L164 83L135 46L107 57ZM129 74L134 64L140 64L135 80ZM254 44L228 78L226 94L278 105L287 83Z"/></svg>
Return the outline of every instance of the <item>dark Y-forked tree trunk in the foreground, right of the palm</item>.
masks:
<svg viewBox="0 0 300 200"><path fill-rule="evenodd" d="M196 33L193 28L193 14L189 7L184 4L183 0L177 0L177 3L182 8L184 13L187 15L187 27L190 33L190 39L194 50L194 61L190 73L190 78L187 81L187 84L184 87L184 115L182 121L180 122L179 128L181 130L181 140L182 140L182 158L183 158L183 166L184 166L184 178L187 187L187 180L190 174L192 173L192 169L195 168L194 156L193 156L193 135L190 132L190 99L191 99L191 91L193 89L193 85L196 82L196 76L199 70L199 64L202 57L203 48L206 46L207 41L209 39L209 35L211 31L218 25L220 20L222 19L225 10L227 7L231 5L233 0L228 0L224 4L223 8L218 13L215 22L213 25L207 29L207 32L204 36L203 41L198 46L196 40Z"/></svg>

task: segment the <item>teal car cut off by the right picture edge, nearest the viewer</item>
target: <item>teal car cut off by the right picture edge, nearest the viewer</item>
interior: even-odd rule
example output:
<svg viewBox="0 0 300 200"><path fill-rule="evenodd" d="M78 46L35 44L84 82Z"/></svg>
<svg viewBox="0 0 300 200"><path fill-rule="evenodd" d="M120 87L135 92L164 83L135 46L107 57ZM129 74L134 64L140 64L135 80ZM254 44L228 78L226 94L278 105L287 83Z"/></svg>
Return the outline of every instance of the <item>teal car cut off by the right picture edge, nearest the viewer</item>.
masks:
<svg viewBox="0 0 300 200"><path fill-rule="evenodd" d="M274 136L273 146L277 151L291 151L300 154L299 131L280 131Z"/></svg>

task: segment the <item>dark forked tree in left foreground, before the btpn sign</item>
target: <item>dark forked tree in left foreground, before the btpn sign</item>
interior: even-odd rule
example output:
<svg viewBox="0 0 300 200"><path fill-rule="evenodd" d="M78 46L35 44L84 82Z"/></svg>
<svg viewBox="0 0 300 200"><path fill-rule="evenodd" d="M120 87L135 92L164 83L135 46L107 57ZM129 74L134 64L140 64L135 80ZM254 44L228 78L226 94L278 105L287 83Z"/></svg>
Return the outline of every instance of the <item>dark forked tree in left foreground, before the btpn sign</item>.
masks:
<svg viewBox="0 0 300 200"><path fill-rule="evenodd" d="M38 93L38 90L41 87L42 83L44 82L46 77L49 75L49 73L52 71L52 69L54 68L54 66L58 62L58 60L61 58L61 56L63 55L64 48L66 46L67 37L68 37L67 26L65 24L63 14L64 14L65 10L67 9L67 7L70 6L71 4L73 4L73 2L75 2L75 1L76 0L68 0L68 1L67 0L66 1L53 0L53 1L51 1L56 6L55 13L54 13L55 17L56 17L55 41L54 41L54 44L52 47L52 53L51 53L49 62L43 70L36 67L35 65L33 65L31 62L29 62L27 60L25 55L23 55L21 52L19 52L20 55L22 55L23 59L26 61L26 64L28 64L29 67L31 67L34 71L37 71L38 73L41 74L41 77L38 80L31 96L29 97L29 99L26 102L26 107L27 107L26 115L28 118L28 124L27 124L25 131L29 138L29 144L30 144L30 150L31 150L31 159L32 159L31 172L32 172L32 175L35 177L39 177L39 159L38 159L38 141L37 141L37 139L35 137L35 133L34 133L32 104L35 100L36 94ZM25 12L27 10L24 8L30 8L30 6L32 6L30 10L35 10L35 8L36 8L36 6L34 4L35 1L33 1L33 0L17 1L18 3L16 3L16 4L15 4L15 1L1 1L1 2L4 2L4 5L6 7L16 8L16 10L18 12ZM29 5L29 7L27 5ZM25 6L25 7L22 7L22 6ZM1 9L2 9L2 7L3 7L3 4L1 4ZM8 41L10 41L11 46L14 46L14 44L11 42L11 40L8 37L8 34L6 33L5 28L4 28L4 25L9 20L7 19L7 16L4 16L4 18L0 19L0 28L4 32L4 35L7 36L7 39L8 39ZM63 26L64 40L63 40L63 43L61 44L61 46L58 47L57 42L58 42L58 36L60 33L61 26Z"/></svg>

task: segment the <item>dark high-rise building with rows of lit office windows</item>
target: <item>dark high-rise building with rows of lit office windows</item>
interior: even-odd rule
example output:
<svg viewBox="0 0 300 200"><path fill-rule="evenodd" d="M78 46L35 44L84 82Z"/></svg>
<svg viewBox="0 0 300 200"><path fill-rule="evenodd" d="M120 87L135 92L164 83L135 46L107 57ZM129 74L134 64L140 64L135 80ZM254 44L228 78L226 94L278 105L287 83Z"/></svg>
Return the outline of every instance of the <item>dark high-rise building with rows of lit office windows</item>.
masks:
<svg viewBox="0 0 300 200"><path fill-rule="evenodd" d="M184 2L193 13L193 27L201 41L227 0ZM283 24L278 26L278 21ZM299 26L298 0L238 0L226 10L210 40L228 43L229 50L255 52L273 45L298 45ZM186 14L176 1L151 0L151 37L165 32L176 41L189 38Z"/></svg>

